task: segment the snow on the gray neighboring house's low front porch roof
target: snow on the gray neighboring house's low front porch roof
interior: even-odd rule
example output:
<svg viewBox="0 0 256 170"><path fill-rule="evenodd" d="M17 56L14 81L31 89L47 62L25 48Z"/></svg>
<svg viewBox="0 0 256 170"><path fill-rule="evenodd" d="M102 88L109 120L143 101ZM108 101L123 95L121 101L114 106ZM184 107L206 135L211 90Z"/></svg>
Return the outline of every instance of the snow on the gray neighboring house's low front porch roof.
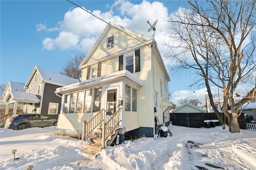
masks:
<svg viewBox="0 0 256 170"><path fill-rule="evenodd" d="M27 102L36 102L39 103L40 99L31 93L25 93L23 91L11 91L10 94L12 95L13 100L19 101L27 101Z"/></svg>

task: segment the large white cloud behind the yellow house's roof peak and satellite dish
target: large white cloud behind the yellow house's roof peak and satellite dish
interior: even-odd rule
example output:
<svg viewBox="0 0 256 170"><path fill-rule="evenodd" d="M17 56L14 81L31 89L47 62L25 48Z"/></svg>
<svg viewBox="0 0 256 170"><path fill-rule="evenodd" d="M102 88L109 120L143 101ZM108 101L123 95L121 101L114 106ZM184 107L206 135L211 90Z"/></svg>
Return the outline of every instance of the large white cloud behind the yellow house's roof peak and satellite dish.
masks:
<svg viewBox="0 0 256 170"><path fill-rule="evenodd" d="M113 10L120 12L120 15L114 15ZM88 10L88 12L106 22L119 24L147 36L152 36L153 31L148 32L150 26L146 20L149 19L151 24L158 20L155 39L160 52L164 52L162 41L167 38L169 30L168 22L164 22L163 18L169 18L169 14L167 7L161 2L143 1L141 4L133 4L132 1L115 1L109 11ZM48 37L43 40L43 49L52 50L58 47L62 50L78 49L84 53L88 52L107 25L88 12L81 8L69 10L54 28L46 28L46 24L38 24L36 27L38 31L59 31L56 38Z"/></svg>

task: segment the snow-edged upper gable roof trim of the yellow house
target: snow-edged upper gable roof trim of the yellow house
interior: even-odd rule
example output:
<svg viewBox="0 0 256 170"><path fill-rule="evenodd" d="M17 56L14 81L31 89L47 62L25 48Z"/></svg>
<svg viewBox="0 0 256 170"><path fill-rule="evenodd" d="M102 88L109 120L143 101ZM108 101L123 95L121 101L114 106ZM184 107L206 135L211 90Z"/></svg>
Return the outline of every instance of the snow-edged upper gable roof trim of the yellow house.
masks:
<svg viewBox="0 0 256 170"><path fill-rule="evenodd" d="M87 53L87 55L84 57L83 61L80 64L80 69L83 68L83 65L87 63L87 61L90 59L90 57L93 55L94 51L97 49L98 45L100 44L100 42L105 38L106 34L108 33L108 30L110 30L110 28L115 28L121 32L124 32L125 34L127 34L128 36L132 36L133 38L136 39L140 39L140 41L143 41L143 43L148 44L154 41L153 38L145 36L143 34L140 34L138 32L129 30L127 28L124 28L118 24L114 24L109 22L108 25L106 26L106 28L103 30L103 32L100 34L98 40L94 43L94 45L92 46L92 48L90 49L90 51ZM117 55L117 53L115 53L115 55Z"/></svg>

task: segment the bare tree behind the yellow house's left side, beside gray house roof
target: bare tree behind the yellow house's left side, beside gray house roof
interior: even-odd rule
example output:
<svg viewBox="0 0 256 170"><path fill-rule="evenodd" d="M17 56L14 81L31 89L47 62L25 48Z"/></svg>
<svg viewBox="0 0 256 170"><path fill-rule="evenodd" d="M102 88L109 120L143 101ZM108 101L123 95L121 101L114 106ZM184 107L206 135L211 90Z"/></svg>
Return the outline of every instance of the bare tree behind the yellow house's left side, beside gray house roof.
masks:
<svg viewBox="0 0 256 170"><path fill-rule="evenodd" d="M60 71L60 73L68 77L80 80L82 72L79 69L79 65L82 63L84 57L85 55L74 55L70 60L67 61L65 67L63 67L63 71Z"/></svg>

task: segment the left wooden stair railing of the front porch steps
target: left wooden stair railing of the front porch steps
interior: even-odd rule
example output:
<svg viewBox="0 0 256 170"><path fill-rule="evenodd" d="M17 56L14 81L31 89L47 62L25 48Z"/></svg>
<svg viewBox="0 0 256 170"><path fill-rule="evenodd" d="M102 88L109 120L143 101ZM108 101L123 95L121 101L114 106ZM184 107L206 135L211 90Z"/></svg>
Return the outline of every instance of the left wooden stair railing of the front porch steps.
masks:
<svg viewBox="0 0 256 170"><path fill-rule="evenodd" d="M92 119L88 122L84 121L83 123L83 132L82 132L82 143L84 142L85 138L96 128L100 123L103 121L103 114L104 109L102 109L97 115L95 115Z"/></svg>

